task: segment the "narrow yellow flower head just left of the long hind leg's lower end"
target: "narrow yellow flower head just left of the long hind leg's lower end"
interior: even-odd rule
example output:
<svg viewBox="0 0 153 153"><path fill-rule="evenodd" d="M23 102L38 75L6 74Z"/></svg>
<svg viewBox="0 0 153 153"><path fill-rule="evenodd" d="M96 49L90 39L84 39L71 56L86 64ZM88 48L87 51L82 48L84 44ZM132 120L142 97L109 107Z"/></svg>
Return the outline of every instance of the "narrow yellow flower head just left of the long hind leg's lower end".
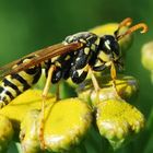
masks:
<svg viewBox="0 0 153 153"><path fill-rule="evenodd" d="M40 152L37 121L39 113L37 109L28 111L21 122L20 140L23 153Z"/></svg>

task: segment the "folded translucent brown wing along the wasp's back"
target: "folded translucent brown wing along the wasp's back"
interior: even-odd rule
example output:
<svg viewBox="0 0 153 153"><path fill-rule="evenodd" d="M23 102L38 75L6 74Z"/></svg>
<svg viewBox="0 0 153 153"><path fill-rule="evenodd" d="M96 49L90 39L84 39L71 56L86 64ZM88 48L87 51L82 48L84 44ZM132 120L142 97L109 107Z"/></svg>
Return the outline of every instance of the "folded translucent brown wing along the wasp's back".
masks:
<svg viewBox="0 0 153 153"><path fill-rule="evenodd" d="M27 55L19 60L15 60L13 62L10 62L10 63L1 67L0 68L0 80L3 79L8 74L13 74L13 73L17 73L22 70L26 70L30 67L38 64L38 63L40 63L47 59L50 59L52 57L63 55L63 54L67 54L69 51L74 51L80 47L81 47L80 43L71 43L68 45L57 44L57 45L49 46L47 48L37 50L35 52L32 52L32 54L30 54L30 55ZM13 68L13 66L15 66L22 59L24 59L26 57L31 57L31 56L34 56L34 58L32 58L30 62L22 62L17 67Z"/></svg>

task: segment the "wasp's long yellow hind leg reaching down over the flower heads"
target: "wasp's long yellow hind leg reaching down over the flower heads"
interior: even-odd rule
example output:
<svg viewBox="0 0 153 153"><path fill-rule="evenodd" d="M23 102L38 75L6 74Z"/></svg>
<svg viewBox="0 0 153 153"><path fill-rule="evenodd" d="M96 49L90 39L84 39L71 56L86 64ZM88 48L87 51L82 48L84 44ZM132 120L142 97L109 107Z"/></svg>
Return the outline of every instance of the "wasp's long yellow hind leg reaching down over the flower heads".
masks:
<svg viewBox="0 0 153 153"><path fill-rule="evenodd" d="M45 101L47 98L47 94L50 87L50 82L52 78L52 72L55 70L55 66L51 66L48 70L48 76L46 80L46 84L42 94L43 101L42 101L42 116L40 116L40 127L39 127L39 141L40 141L40 148L45 149L45 141L44 141L44 127L45 127Z"/></svg>

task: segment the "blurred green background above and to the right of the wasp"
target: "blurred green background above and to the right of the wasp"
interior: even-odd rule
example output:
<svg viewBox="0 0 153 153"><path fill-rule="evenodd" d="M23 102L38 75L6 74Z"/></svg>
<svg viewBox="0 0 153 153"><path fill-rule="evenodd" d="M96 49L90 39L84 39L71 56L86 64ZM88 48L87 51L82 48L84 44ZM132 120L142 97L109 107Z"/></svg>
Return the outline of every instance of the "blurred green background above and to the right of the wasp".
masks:
<svg viewBox="0 0 153 153"><path fill-rule="evenodd" d="M134 23L149 25L149 33L134 34L133 45L127 54L126 73L139 80L140 93L132 104L150 121L136 140L117 152L152 153L153 84L150 72L141 64L141 47L153 39L153 0L0 0L0 66L59 43L67 35L108 22L120 22L128 16ZM91 153L94 152L91 149Z"/></svg>

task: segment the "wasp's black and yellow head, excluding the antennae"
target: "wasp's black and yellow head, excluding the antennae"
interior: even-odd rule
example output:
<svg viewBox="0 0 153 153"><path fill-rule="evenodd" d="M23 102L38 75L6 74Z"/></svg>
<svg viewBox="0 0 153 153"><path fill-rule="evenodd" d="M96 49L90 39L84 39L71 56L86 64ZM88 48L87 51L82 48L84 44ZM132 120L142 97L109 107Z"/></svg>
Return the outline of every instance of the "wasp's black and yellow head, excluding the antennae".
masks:
<svg viewBox="0 0 153 153"><path fill-rule="evenodd" d="M98 57L103 61L116 61L120 58L120 48L117 39L113 35L101 37Z"/></svg>

